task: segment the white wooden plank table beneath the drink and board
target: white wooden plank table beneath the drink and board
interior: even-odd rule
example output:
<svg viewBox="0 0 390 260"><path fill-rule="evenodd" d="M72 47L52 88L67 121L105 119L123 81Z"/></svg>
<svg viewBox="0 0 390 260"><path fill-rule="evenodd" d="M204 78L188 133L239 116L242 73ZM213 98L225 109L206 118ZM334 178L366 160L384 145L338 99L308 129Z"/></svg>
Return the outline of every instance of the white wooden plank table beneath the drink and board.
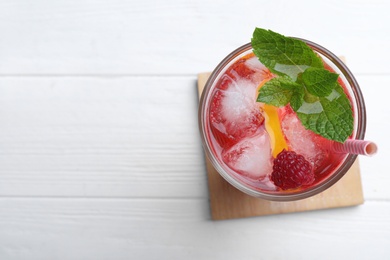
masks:
<svg viewBox="0 0 390 260"><path fill-rule="evenodd" d="M389 259L390 3L0 1L0 259ZM255 27L346 56L365 204L211 221L196 75Z"/></svg>

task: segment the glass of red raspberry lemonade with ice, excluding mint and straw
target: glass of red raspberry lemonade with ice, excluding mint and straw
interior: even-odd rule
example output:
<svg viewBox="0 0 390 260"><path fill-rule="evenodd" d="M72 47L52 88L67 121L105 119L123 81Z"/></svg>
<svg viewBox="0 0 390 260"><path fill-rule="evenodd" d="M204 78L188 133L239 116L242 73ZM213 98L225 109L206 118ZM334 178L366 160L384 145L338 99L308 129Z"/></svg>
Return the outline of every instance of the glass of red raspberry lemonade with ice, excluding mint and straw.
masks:
<svg viewBox="0 0 390 260"><path fill-rule="evenodd" d="M338 74L337 82L352 111L348 139L363 139L366 113L354 76L327 49L297 40L314 51L326 70ZM304 126L298 114L305 102L315 103L307 95L299 109L294 109L293 101L283 106L259 101L263 86L280 76L277 74L260 62L254 54L253 42L230 53L205 85L199 106L199 127L205 152L225 180L251 196L291 201L332 186L344 176L357 155L333 152L335 140ZM311 110L313 107L316 110L316 106ZM334 131L342 130L336 127Z"/></svg>

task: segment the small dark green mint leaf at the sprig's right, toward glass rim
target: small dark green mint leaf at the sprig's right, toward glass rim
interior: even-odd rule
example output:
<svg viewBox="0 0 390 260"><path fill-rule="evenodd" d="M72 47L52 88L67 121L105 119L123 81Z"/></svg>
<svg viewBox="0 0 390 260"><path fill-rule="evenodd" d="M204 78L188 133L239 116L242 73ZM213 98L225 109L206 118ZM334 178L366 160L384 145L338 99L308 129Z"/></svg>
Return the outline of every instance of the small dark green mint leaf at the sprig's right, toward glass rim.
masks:
<svg viewBox="0 0 390 260"><path fill-rule="evenodd" d="M326 97L335 88L339 75L326 69L308 68L302 73L307 91L317 97Z"/></svg>

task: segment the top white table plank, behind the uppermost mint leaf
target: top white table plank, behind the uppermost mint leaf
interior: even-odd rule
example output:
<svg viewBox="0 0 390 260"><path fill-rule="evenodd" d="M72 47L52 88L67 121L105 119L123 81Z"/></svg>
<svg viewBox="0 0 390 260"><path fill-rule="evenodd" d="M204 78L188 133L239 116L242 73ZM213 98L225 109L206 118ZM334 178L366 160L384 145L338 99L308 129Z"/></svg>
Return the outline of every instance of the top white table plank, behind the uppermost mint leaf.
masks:
<svg viewBox="0 0 390 260"><path fill-rule="evenodd" d="M355 73L390 73L390 2L46 1L0 3L0 74L196 74L256 26L318 42ZM245 14L245 15L240 15Z"/></svg>

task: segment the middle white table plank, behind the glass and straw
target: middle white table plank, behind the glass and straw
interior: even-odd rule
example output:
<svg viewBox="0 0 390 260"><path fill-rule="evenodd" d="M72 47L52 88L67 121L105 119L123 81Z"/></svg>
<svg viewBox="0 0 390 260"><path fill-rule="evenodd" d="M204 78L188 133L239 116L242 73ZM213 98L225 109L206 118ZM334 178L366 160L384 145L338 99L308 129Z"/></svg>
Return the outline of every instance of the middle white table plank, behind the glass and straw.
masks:
<svg viewBox="0 0 390 260"><path fill-rule="evenodd" d="M361 158L367 199L390 199L385 92L390 76L358 78L366 96ZM205 198L194 77L0 78L0 195ZM383 115L379 117L378 115Z"/></svg>

